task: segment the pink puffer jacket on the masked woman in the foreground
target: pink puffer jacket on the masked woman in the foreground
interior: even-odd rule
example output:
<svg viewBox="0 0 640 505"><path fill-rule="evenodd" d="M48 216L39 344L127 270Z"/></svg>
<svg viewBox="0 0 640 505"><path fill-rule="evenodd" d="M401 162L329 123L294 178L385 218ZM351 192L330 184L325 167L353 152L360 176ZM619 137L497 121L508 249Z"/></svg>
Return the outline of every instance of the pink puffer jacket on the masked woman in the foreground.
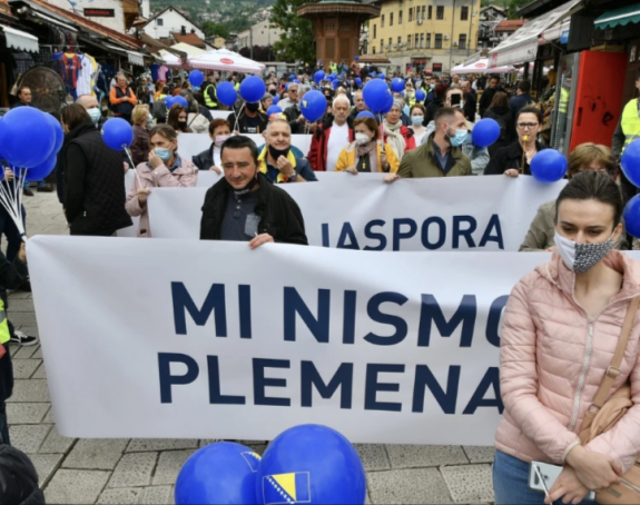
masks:
<svg viewBox="0 0 640 505"><path fill-rule="evenodd" d="M519 459L562 464L611 363L629 300L640 295L640 264L613 250L605 264L624 276L622 289L589 316L573 296L574 274L558 255L513 288L504 313L500 387L504 416L495 447ZM639 310L640 313L640 310ZM631 382L634 406L587 448L627 472L640 454L640 315L612 392Z"/></svg>

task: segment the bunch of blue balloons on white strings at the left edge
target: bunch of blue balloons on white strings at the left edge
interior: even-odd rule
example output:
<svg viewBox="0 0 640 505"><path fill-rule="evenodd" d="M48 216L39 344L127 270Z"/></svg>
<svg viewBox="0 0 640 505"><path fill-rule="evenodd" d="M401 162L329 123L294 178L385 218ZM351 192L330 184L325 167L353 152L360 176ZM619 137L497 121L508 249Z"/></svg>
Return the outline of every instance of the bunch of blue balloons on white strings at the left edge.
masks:
<svg viewBox="0 0 640 505"><path fill-rule="evenodd" d="M0 121L0 205L7 210L23 240L22 187L26 181L42 180L56 168L65 133L60 122L35 107L18 107ZM6 170L13 174L6 178Z"/></svg>

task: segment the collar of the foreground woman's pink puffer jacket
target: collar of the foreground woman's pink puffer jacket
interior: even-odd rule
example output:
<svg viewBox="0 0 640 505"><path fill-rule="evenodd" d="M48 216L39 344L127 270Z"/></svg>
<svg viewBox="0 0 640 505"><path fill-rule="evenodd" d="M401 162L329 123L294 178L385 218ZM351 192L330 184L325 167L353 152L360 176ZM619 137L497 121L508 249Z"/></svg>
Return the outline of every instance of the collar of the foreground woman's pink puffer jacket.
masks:
<svg viewBox="0 0 640 505"><path fill-rule="evenodd" d="M602 261L623 276L622 288L611 298L610 304L640 295L640 264L638 261L616 249L609 251ZM553 253L551 263L535 267L535 271L569 297L573 296L575 274L564 265L558 253Z"/></svg>

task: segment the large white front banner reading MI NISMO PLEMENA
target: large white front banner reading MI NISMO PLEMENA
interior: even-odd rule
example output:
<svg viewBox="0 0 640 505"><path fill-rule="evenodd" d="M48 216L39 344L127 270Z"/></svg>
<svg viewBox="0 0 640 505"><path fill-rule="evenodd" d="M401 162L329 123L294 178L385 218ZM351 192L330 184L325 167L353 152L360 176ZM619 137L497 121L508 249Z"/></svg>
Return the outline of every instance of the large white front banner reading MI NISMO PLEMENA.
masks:
<svg viewBox="0 0 640 505"><path fill-rule="evenodd" d="M319 423L437 445L492 445L502 309L550 258L63 236L28 255L63 436L264 440Z"/></svg>

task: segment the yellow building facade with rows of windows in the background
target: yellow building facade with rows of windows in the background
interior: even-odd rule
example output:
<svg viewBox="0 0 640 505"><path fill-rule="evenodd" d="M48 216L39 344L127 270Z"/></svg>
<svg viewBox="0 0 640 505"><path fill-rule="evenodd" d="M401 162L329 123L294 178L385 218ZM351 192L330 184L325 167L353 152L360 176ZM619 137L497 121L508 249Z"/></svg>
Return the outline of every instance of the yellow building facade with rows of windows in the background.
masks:
<svg viewBox="0 0 640 505"><path fill-rule="evenodd" d="M480 0L380 0L370 55L401 72L447 72L477 50Z"/></svg>

